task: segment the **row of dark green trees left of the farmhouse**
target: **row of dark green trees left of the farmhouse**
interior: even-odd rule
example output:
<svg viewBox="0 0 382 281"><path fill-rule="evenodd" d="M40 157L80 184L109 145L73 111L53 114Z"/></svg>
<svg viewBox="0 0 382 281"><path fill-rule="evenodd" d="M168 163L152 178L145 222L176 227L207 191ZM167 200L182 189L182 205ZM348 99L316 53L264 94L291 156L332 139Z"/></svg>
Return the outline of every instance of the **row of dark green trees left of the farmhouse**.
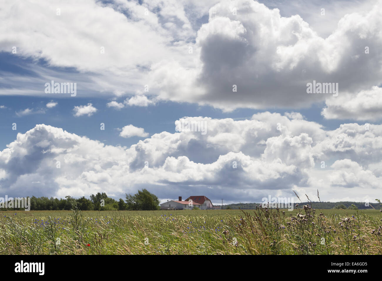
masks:
<svg viewBox="0 0 382 281"><path fill-rule="evenodd" d="M78 208L82 211L123 211L123 210L159 210L159 199L146 189L138 190L131 195L126 193L126 199L118 201L107 196L105 192L92 194L90 198L63 198L35 197L31 198L31 210L33 211L62 211ZM5 208L4 210L24 210L24 208Z"/></svg>

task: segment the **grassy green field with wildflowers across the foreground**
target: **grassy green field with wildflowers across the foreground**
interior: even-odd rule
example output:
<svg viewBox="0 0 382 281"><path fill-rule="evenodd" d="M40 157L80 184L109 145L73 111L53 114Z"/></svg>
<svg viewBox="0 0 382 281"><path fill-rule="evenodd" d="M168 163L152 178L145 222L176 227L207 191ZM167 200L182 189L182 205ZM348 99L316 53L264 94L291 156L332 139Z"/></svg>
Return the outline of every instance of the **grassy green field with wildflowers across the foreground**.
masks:
<svg viewBox="0 0 382 281"><path fill-rule="evenodd" d="M285 213L283 213L285 212ZM379 210L3 211L2 254L381 254Z"/></svg>

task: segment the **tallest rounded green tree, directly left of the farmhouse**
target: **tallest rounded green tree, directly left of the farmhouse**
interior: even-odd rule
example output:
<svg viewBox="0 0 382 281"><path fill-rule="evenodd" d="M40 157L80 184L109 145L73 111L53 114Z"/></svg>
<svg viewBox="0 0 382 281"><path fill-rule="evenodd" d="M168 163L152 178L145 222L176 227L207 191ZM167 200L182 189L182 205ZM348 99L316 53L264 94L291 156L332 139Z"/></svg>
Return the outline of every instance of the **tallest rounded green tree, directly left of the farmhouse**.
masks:
<svg viewBox="0 0 382 281"><path fill-rule="evenodd" d="M159 199L147 189L138 190L138 193L126 194L128 210L159 210Z"/></svg>

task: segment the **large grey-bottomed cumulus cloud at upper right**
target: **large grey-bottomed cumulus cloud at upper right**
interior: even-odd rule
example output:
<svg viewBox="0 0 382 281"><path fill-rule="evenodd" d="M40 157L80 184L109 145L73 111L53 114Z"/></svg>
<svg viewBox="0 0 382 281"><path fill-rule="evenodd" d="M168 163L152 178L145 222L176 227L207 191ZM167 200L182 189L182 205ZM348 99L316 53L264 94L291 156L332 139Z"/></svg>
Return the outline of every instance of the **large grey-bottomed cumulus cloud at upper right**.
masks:
<svg viewBox="0 0 382 281"><path fill-rule="evenodd" d="M282 17L278 9L249 0L220 2L210 9L209 22L197 32L199 72L173 68L177 80L169 80L167 87L161 83L165 89L160 96L176 99L176 91L184 94L193 89L197 93L184 94L185 100L225 110L296 108L325 100L332 109L332 104L340 103L336 99L351 99L382 82L381 5L378 2L371 11L345 15L332 34L322 38L299 15ZM365 47L373 52L366 54ZM168 68L155 69L155 78ZM189 84L180 83L182 77L194 79L197 87L187 91L179 86ZM339 96L306 93L306 84L313 80L338 83ZM357 107L355 101L352 104ZM341 110L336 113L348 117ZM352 119L367 116L353 115Z"/></svg>

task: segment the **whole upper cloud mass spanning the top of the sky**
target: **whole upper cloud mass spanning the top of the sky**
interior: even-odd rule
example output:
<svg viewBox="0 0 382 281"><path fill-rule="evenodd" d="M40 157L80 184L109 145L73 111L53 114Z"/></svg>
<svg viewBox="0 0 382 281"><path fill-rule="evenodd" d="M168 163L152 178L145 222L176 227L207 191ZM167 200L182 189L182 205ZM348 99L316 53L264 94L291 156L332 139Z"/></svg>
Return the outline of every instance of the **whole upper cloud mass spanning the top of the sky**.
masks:
<svg viewBox="0 0 382 281"><path fill-rule="evenodd" d="M4 73L9 79L0 94L44 95L39 85L52 78L45 67L70 67L79 73L55 73L55 79L78 81L81 95L139 96L148 89L158 100L223 110L325 101L326 118L373 120L370 112L380 113L379 90L372 87L382 82L382 1L373 2L359 10L351 3L326 37L300 15L281 16L253 0L9 0L0 11L8 23L0 27L0 50L16 46L15 55L47 63L31 63L35 79L24 83ZM314 18L315 27L327 23L330 9L341 10L330 5L327 15ZM307 94L313 80L338 83L339 95Z"/></svg>

